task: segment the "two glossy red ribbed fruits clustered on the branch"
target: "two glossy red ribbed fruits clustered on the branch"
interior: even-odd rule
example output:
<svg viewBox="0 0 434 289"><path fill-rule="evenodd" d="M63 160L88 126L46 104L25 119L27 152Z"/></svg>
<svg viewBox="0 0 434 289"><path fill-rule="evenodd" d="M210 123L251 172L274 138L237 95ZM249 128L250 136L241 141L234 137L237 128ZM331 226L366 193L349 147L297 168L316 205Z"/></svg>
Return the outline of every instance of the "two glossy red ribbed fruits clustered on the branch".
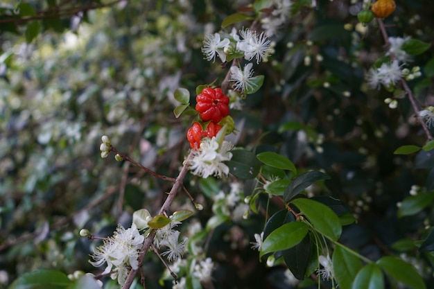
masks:
<svg viewBox="0 0 434 289"><path fill-rule="evenodd" d="M187 132L187 139L193 150L198 150L202 137L215 137L221 129L218 123L229 115L229 97L225 96L220 88L206 87L196 96L196 111L205 122L205 130L196 121Z"/></svg>

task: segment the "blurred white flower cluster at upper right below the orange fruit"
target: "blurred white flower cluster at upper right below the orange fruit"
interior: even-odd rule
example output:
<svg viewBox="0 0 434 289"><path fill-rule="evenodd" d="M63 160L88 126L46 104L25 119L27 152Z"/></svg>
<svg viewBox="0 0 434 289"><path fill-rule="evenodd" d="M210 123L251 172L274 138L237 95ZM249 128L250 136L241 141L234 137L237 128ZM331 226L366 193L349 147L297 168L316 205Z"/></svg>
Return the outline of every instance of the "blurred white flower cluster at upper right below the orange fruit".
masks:
<svg viewBox="0 0 434 289"><path fill-rule="evenodd" d="M372 68L367 74L367 82L371 88L379 89L381 85L390 88L399 82L402 76L398 60L393 60L390 63L381 64L381 67Z"/></svg>

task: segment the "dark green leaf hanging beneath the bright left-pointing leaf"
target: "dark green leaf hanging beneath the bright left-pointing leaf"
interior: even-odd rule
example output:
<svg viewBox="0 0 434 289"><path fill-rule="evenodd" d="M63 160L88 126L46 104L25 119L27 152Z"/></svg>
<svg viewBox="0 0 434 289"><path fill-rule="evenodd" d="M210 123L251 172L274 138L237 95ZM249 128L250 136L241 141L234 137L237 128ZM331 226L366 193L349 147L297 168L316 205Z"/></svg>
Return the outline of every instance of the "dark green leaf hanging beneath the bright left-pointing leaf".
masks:
<svg viewBox="0 0 434 289"><path fill-rule="evenodd" d="M282 252L286 267L299 280L303 280L306 276L311 258L311 247L311 238L309 234L306 234L300 243Z"/></svg>

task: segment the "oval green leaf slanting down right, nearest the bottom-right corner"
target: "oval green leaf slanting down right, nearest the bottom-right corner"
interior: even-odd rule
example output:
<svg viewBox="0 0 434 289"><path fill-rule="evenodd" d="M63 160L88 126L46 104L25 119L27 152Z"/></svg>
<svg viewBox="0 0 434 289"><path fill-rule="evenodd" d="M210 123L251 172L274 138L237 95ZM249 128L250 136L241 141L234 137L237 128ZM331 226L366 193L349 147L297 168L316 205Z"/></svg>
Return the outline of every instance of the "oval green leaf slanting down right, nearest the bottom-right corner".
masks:
<svg viewBox="0 0 434 289"><path fill-rule="evenodd" d="M392 256L384 256L376 261L390 277L412 289L426 289L424 280L412 265Z"/></svg>

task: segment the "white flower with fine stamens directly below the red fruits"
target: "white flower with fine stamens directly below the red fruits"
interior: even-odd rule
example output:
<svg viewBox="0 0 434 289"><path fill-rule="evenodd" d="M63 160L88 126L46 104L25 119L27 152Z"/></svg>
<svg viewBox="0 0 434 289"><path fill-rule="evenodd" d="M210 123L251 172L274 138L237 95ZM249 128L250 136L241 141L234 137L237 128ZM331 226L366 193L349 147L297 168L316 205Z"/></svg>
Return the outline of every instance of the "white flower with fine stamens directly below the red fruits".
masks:
<svg viewBox="0 0 434 289"><path fill-rule="evenodd" d="M190 163L190 170L193 175L200 175L207 178L210 175L222 177L229 173L229 167L223 161L232 159L232 144L223 141L219 146L215 137L205 137L200 143L198 150L193 150L193 157Z"/></svg>

